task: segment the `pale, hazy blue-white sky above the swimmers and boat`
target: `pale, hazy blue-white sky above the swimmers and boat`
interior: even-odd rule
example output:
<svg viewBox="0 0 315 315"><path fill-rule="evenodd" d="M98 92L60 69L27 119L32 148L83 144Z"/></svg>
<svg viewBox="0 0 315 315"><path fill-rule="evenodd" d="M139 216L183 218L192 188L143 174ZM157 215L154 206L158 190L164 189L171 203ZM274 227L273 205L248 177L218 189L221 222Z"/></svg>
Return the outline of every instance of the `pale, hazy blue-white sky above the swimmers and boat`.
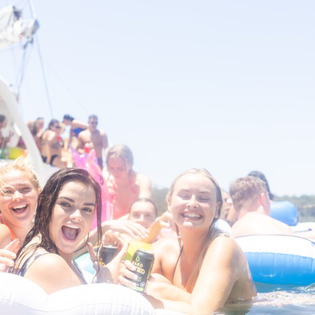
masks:
<svg viewBox="0 0 315 315"><path fill-rule="evenodd" d="M25 121L96 114L158 187L203 167L223 189L258 170L276 195L315 194L313 0L32 3ZM29 1L8 4L30 17ZM21 59L20 45L0 50L8 83Z"/></svg>

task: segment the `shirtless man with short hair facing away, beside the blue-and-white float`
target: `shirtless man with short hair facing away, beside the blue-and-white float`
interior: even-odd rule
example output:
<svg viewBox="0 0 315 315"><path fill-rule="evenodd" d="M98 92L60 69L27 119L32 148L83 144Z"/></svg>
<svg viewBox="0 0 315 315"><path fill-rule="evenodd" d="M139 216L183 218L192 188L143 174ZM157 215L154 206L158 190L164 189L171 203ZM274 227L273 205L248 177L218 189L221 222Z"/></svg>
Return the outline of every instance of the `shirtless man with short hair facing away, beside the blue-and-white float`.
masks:
<svg viewBox="0 0 315 315"><path fill-rule="evenodd" d="M237 178L230 186L237 221L232 226L234 237L277 234L315 238L315 231L296 232L289 225L271 218L266 184L258 177Z"/></svg>

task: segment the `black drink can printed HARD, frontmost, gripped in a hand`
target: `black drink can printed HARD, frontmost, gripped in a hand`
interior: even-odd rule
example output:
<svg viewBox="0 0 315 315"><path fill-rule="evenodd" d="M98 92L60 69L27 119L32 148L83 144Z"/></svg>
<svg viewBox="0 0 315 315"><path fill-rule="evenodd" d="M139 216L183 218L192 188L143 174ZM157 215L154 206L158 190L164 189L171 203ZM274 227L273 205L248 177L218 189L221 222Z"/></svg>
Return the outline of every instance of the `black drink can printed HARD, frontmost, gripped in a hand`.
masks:
<svg viewBox="0 0 315 315"><path fill-rule="evenodd" d="M145 293L154 263L154 254L138 249L133 254L131 263L136 268L133 273L135 273L138 278L137 280L131 280L136 283L136 286L130 286L130 288L140 293Z"/></svg>

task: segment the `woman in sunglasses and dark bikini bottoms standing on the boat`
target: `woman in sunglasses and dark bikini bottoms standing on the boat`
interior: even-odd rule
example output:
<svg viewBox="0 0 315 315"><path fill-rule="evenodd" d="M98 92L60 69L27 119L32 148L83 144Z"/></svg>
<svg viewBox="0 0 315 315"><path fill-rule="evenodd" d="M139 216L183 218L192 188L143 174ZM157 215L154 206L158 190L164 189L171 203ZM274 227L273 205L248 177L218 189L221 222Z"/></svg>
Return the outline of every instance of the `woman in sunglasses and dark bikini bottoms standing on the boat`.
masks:
<svg viewBox="0 0 315 315"><path fill-rule="evenodd" d="M43 133L41 155L45 163L63 168L66 167L66 162L62 160L63 138L60 132L59 121L52 119Z"/></svg>

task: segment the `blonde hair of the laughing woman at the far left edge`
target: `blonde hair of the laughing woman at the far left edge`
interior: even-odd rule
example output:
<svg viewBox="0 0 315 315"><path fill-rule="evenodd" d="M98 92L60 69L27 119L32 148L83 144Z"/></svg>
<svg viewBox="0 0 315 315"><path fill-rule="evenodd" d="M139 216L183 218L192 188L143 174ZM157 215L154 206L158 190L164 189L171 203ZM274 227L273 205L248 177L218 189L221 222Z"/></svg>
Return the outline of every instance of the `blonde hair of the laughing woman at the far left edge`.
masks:
<svg viewBox="0 0 315 315"><path fill-rule="evenodd" d="M25 173L28 176L32 186L36 190L40 190L40 184L36 173L32 171L31 168L25 163L23 157L18 157L14 162L6 164L0 168L0 192L2 194L5 193L3 189L5 183L3 182L2 177L4 174L11 173L12 171L20 171Z"/></svg>

